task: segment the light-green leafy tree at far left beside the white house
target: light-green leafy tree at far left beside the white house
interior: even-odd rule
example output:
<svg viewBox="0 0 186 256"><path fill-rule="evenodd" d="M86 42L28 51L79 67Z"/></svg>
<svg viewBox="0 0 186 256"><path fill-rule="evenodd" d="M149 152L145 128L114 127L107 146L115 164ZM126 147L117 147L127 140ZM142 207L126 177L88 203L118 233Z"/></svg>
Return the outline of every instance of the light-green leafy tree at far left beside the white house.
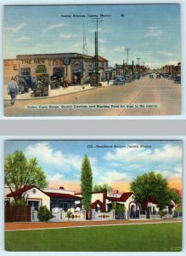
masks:
<svg viewBox="0 0 186 256"><path fill-rule="evenodd" d="M13 193L14 190L18 190L14 195L15 204L23 198L21 189L25 186L36 185L42 189L48 184L42 167L38 166L37 159L27 160L22 150L15 150L13 154L7 155L4 172L5 184L10 191Z"/></svg>

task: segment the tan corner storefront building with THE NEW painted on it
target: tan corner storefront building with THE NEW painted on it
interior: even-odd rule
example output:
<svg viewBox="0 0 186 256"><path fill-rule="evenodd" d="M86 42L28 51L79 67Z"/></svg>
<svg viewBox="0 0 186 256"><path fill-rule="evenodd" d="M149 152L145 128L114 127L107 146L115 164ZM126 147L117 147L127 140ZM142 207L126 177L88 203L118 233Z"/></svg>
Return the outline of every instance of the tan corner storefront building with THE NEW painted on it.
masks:
<svg viewBox="0 0 186 256"><path fill-rule="evenodd" d="M93 64L93 56L78 53L17 55L15 59L4 60L4 84L17 76L30 84L39 73L48 73L49 81L54 77L63 81L66 77L69 84L81 84L82 76L93 73Z"/></svg>

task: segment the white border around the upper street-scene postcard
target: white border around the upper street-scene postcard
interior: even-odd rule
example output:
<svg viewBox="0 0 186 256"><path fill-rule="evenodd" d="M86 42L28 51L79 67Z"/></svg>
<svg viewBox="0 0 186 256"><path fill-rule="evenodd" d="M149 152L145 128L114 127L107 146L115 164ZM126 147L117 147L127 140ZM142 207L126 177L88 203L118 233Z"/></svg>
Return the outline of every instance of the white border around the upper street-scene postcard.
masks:
<svg viewBox="0 0 186 256"><path fill-rule="evenodd" d="M186 98L186 73L184 70L186 70L185 65L185 59L186 59L186 34L185 34L185 27L186 24L186 1L185 0L117 0L116 2L112 0L94 0L94 1L88 1L88 0L65 0L65 1L59 1L59 0L1 0L0 3L0 37L3 38L3 5L18 5L18 4L31 4L31 5L39 5L39 4L93 4L93 3L180 3L181 4L181 36L182 36L182 114L178 116L73 116L73 117L63 117L63 116L53 116L49 117L49 119L186 119L186 101L184 100ZM2 90L0 90L0 119L48 119L48 117L5 117L3 115L3 40L0 40L0 84L2 85Z"/></svg>

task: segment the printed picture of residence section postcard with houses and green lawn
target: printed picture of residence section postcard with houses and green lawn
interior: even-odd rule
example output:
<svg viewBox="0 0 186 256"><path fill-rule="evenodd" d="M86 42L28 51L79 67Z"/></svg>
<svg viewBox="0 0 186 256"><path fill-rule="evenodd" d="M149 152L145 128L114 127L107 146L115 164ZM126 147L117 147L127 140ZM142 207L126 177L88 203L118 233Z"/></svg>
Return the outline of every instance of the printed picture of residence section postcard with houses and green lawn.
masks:
<svg viewBox="0 0 186 256"><path fill-rule="evenodd" d="M5 250L182 251L183 141L7 140Z"/></svg>

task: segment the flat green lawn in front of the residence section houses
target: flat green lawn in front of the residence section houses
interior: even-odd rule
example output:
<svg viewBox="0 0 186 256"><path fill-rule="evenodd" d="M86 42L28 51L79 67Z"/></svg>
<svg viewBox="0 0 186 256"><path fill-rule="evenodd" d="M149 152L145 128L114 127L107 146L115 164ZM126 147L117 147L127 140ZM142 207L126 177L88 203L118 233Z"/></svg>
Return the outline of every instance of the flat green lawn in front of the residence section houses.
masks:
<svg viewBox="0 0 186 256"><path fill-rule="evenodd" d="M182 224L5 232L7 251L166 252L182 250Z"/></svg>

